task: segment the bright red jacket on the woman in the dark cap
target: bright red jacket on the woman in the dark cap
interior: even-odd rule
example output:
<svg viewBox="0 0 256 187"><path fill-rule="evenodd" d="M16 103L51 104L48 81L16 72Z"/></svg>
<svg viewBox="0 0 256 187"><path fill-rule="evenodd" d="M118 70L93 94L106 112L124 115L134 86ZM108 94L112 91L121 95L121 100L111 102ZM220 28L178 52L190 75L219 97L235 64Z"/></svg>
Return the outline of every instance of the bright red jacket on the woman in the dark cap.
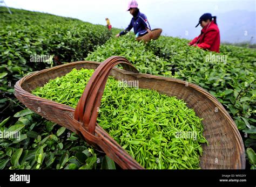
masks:
<svg viewBox="0 0 256 187"><path fill-rule="evenodd" d="M209 25L210 24L210 25ZM220 31L218 26L211 21L202 30L201 34L194 38L190 45L195 45L210 51L220 52Z"/></svg>

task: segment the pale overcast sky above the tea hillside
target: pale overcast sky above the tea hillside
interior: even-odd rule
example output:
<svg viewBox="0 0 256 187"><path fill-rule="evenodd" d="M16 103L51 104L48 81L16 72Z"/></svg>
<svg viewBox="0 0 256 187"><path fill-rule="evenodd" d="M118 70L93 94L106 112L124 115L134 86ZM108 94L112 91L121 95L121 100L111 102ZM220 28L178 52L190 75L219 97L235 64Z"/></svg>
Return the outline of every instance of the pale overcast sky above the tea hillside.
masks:
<svg viewBox="0 0 256 187"><path fill-rule="evenodd" d="M5 3L12 8L78 18L93 24L105 25L105 17L108 17L112 26L118 28L126 28L132 18L130 13L126 12L128 2L128 0L5 0ZM221 15L227 12L256 10L255 0L138 0L138 4L152 28L164 28L164 34L183 38L193 38L200 33L200 26L197 28L194 26L203 13L212 13L221 23ZM253 24L255 28L255 13L254 23L251 25ZM178 30L178 27L182 27L182 30ZM185 31L189 31L189 34L185 35Z"/></svg>

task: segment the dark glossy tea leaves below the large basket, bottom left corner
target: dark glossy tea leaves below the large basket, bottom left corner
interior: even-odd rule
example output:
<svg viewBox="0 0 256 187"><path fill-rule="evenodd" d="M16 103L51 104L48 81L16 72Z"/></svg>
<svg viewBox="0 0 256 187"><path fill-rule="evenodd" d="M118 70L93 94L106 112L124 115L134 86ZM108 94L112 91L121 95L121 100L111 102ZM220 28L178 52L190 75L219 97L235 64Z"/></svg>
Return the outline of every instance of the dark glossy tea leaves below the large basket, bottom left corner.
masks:
<svg viewBox="0 0 256 187"><path fill-rule="evenodd" d="M104 154L96 155L75 133L35 113L20 117L15 124L5 123L1 132L8 131L17 132L19 136L0 139L0 169L102 168ZM84 161L81 162L81 158ZM90 158L99 159L87 164Z"/></svg>

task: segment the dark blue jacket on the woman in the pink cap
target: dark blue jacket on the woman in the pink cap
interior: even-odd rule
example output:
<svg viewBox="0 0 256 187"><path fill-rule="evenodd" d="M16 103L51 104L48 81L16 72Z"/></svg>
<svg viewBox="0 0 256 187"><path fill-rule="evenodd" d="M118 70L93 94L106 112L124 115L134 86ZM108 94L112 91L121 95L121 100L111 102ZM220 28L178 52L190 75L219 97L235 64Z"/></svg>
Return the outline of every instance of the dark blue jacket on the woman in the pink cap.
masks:
<svg viewBox="0 0 256 187"><path fill-rule="evenodd" d="M137 16L132 18L129 26L119 34L120 35L126 34L132 29L132 27L134 30L134 34L138 33L138 35L145 35L147 33L146 28L149 28L151 30L150 24L147 21L147 17L143 13L140 13L140 11L138 12Z"/></svg>

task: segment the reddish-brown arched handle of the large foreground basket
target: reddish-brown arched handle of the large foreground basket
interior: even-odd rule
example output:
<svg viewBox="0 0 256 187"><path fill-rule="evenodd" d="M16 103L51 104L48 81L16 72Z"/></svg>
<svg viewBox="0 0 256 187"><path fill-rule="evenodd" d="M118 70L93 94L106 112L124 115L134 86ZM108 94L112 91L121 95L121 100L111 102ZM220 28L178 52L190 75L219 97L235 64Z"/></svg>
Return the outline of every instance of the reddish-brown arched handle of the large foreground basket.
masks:
<svg viewBox="0 0 256 187"><path fill-rule="evenodd" d="M132 64L121 56L112 56L100 63L98 68L92 74L82 97L77 104L74 118L83 123L85 130L95 134L96 120L98 116L98 109L102 100L104 88L109 77L111 69L117 64L133 73L139 73Z"/></svg>

